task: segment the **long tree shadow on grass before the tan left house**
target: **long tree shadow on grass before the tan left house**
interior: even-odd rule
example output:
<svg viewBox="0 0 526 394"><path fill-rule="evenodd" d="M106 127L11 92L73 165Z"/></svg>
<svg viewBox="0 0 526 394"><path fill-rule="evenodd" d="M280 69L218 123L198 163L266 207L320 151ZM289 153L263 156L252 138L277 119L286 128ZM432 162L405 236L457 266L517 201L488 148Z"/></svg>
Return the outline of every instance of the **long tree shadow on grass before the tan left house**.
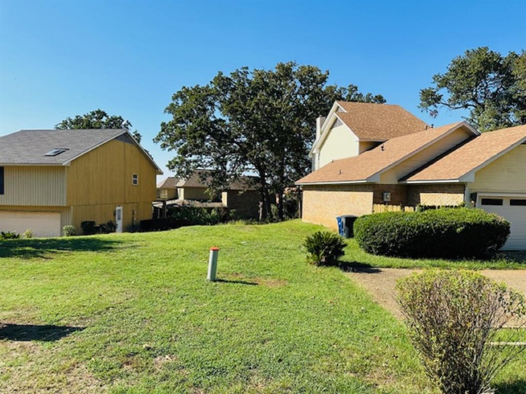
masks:
<svg viewBox="0 0 526 394"><path fill-rule="evenodd" d="M106 252L115 249L122 241L92 237L49 238L0 241L0 258L50 258L59 252Z"/></svg>

